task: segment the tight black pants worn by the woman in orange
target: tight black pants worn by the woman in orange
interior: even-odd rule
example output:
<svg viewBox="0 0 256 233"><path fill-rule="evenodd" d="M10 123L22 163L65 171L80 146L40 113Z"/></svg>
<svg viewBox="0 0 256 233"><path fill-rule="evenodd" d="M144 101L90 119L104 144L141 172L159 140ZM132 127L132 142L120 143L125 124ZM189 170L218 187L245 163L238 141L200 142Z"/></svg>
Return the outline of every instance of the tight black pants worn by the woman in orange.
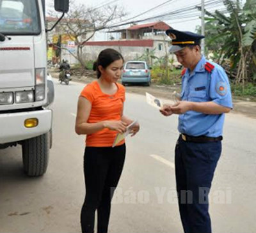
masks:
<svg viewBox="0 0 256 233"><path fill-rule="evenodd" d="M83 233L94 230L97 209L97 232L108 232L111 199L118 184L125 160L125 144L116 147L86 147L84 180L86 196L81 210Z"/></svg>

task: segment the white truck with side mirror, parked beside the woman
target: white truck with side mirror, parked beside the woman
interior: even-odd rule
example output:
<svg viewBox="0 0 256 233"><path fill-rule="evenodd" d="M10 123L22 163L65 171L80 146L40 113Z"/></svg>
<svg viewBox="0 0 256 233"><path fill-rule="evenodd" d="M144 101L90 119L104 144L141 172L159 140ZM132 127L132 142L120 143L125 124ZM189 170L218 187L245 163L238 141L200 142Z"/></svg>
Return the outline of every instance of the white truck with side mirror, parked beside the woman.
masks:
<svg viewBox="0 0 256 233"><path fill-rule="evenodd" d="M58 22L68 4L54 1ZM20 144L28 176L45 173L52 140L47 31L45 0L0 0L0 149Z"/></svg>

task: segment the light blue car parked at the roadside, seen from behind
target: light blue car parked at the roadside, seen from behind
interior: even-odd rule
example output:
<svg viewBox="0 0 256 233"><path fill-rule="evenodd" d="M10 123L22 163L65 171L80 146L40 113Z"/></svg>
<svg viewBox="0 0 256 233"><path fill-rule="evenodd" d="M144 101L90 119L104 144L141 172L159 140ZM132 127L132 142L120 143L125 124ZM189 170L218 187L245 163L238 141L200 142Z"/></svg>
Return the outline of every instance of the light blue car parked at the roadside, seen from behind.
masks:
<svg viewBox="0 0 256 233"><path fill-rule="evenodd" d="M146 61L127 61L122 73L122 84L144 83L150 86L150 69Z"/></svg>

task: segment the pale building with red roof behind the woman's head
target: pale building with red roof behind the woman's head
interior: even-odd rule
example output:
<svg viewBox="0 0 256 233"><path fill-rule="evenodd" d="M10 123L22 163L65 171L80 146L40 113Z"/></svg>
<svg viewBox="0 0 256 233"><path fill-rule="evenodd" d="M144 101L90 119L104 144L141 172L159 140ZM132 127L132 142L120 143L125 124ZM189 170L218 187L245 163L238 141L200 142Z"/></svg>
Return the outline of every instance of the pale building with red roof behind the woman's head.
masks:
<svg viewBox="0 0 256 233"><path fill-rule="evenodd" d="M86 41L83 55L86 60L95 60L101 50L112 48L121 52L125 60L143 57L152 64L155 60L169 55L170 39L165 34L167 29L170 26L159 21L110 31L109 41Z"/></svg>

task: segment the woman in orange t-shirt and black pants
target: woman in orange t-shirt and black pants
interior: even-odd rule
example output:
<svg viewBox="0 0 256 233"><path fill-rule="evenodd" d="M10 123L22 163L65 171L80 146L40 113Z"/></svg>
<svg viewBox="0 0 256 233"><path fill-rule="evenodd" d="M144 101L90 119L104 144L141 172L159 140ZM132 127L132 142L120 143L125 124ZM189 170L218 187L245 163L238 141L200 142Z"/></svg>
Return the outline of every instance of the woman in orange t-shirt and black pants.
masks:
<svg viewBox="0 0 256 233"><path fill-rule="evenodd" d="M95 69L98 80L84 87L77 104L76 133L85 134L84 179L86 197L81 210L83 233L93 232L97 209L97 232L108 232L111 198L125 160L125 142L112 147L116 133L124 133L132 120L123 115L125 89L117 83L124 65L113 49L100 52ZM136 123L132 136L140 130Z"/></svg>

